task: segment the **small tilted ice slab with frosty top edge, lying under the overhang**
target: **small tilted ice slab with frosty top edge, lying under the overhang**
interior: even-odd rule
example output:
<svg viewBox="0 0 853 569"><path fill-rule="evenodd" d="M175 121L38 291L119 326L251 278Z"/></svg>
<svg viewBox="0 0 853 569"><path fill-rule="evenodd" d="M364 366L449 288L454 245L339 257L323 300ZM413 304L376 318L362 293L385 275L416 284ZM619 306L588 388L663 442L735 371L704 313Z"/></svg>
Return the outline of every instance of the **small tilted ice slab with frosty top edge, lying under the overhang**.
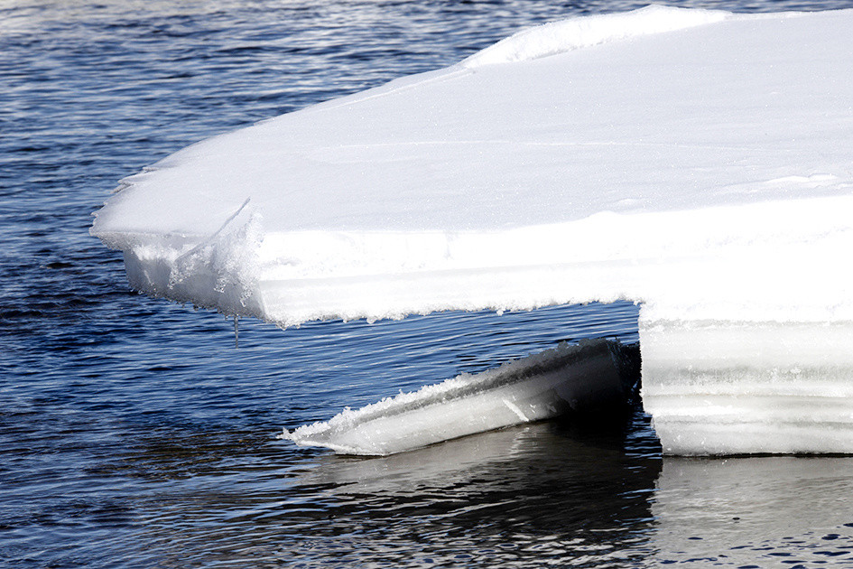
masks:
<svg viewBox="0 0 853 569"><path fill-rule="evenodd" d="M284 431L302 446L385 455L570 412L624 406L632 393L619 345L588 340L518 359Z"/></svg>

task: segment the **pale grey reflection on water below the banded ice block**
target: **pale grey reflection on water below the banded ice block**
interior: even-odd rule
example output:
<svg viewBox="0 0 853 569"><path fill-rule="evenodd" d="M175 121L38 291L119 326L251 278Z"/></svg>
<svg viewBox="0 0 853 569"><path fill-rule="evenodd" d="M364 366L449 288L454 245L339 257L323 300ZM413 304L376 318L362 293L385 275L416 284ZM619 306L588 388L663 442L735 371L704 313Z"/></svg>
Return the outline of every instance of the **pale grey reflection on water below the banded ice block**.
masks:
<svg viewBox="0 0 853 569"><path fill-rule="evenodd" d="M661 562L853 563L853 459L666 458L657 487Z"/></svg>

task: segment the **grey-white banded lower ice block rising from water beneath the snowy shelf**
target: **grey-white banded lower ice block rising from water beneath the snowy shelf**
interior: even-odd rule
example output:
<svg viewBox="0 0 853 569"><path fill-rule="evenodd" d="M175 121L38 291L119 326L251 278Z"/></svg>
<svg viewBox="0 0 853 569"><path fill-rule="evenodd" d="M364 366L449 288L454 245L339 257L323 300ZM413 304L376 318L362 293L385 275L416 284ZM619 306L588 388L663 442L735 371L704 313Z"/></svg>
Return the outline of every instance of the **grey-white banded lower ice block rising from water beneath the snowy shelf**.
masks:
<svg viewBox="0 0 853 569"><path fill-rule="evenodd" d="M853 452L853 322L643 322L663 452Z"/></svg>

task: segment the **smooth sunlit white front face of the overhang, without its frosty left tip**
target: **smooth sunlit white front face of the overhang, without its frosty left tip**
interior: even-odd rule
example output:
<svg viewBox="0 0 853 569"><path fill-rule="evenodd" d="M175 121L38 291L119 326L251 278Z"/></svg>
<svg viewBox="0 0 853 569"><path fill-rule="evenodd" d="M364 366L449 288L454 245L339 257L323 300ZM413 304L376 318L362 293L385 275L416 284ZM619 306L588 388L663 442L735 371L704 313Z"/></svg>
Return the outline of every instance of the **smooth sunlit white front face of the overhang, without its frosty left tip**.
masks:
<svg viewBox="0 0 853 569"><path fill-rule="evenodd" d="M278 322L310 319L320 307L321 313L357 318L617 299L642 300L646 322L844 322L853 320L853 296L848 266L838 259L853 247L851 207L853 200L839 197L602 213L568 227L447 240L399 234L393 246L365 247L385 254L376 263L338 266L322 280L300 274L305 266L280 267L279 278L260 286L266 310ZM313 245L341 247L350 259L363 259L362 246L386 238ZM382 278L374 272L380 263Z"/></svg>

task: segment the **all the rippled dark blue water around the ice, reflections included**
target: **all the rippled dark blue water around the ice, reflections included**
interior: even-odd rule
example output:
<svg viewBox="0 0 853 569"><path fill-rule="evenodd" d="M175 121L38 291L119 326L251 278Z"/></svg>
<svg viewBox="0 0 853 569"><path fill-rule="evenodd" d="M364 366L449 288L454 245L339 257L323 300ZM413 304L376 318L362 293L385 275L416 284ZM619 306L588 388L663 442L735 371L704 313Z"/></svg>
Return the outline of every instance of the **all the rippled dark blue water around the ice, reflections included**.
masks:
<svg viewBox="0 0 853 569"><path fill-rule="evenodd" d="M199 138L639 5L0 2L0 565L853 564L850 459L664 460L639 410L382 459L274 438L558 340L636 340L631 304L244 321L235 349L88 237L119 178Z"/></svg>

